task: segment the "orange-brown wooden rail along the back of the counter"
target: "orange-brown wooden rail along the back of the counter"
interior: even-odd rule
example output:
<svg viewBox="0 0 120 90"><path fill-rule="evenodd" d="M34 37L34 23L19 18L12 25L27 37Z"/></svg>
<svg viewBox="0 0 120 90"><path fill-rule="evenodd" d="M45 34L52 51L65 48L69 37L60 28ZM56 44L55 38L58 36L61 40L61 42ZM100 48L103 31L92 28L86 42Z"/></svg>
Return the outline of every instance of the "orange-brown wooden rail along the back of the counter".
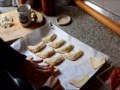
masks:
<svg viewBox="0 0 120 90"><path fill-rule="evenodd" d="M120 25L119 24L113 22L112 20L110 20L109 18L105 17L101 13L95 11L94 9L92 9L91 7L86 5L84 3L84 1L82 1L82 0L75 0L75 3L76 3L76 5L79 8L83 9L89 15L94 17L100 23L104 24L105 26L107 26L108 28L110 28L112 31L114 31L116 34L118 34L120 36Z"/></svg>

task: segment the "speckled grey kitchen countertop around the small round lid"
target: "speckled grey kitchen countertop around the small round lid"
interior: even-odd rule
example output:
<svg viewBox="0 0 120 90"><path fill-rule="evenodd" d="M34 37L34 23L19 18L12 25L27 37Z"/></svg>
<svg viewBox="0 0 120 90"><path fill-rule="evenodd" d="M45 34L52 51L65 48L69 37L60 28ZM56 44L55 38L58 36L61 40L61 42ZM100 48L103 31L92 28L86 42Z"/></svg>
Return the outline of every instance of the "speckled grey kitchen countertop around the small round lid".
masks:
<svg viewBox="0 0 120 90"><path fill-rule="evenodd" d="M59 26L62 30L79 39L83 43L110 56L109 62L114 65L120 64L120 38L113 31L108 29L88 15L83 10L75 6L57 8L59 11L54 17L47 17L53 24L57 25L56 18L61 14L68 14L72 18L72 23L68 26ZM96 79L96 75L91 78L81 90L105 90L102 84Z"/></svg>

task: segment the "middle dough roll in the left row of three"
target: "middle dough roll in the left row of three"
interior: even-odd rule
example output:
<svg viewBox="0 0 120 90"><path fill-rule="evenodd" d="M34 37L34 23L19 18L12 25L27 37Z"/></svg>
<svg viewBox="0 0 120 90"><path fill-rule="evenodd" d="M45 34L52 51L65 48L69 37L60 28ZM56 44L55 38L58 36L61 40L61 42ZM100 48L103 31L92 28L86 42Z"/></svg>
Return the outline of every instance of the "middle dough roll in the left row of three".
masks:
<svg viewBox="0 0 120 90"><path fill-rule="evenodd" d="M36 53L36 55L41 57L41 58L49 58L49 57L51 57L54 54L55 54L55 51L53 49L44 50L42 52Z"/></svg>

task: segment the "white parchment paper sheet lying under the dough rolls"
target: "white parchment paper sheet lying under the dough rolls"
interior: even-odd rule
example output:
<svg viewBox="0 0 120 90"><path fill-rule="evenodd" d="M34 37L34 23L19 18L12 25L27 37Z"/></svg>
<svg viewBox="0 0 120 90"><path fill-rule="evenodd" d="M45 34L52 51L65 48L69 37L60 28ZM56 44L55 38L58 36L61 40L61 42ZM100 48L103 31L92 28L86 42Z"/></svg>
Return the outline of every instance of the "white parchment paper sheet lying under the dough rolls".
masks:
<svg viewBox="0 0 120 90"><path fill-rule="evenodd" d="M58 28L55 25L47 23L46 25L42 26L41 28L38 28L33 33L25 36L24 38L21 38L14 42L11 46L19 51L22 54L25 54L27 56L32 55L34 59L40 59L37 57L34 53L27 50L28 45L36 45L41 41L41 39L51 33L56 33L58 39L64 39L67 42L70 42L73 44L74 50L81 49L84 51L84 55L82 58L78 59L77 61L70 61L65 59L64 62L62 62L57 67L59 68L61 74L59 74L57 77L59 78L62 86L65 90L78 90L79 88L76 88L75 86L71 85L69 83L69 79L71 78L82 78L83 75L88 74L89 78L91 78L100 68L97 68L96 70L91 67L91 64L89 62L89 57L93 56L95 58L106 58L108 60L108 56L91 48L90 46L82 43L78 39L70 36L60 28ZM73 50L73 51L74 51Z"/></svg>

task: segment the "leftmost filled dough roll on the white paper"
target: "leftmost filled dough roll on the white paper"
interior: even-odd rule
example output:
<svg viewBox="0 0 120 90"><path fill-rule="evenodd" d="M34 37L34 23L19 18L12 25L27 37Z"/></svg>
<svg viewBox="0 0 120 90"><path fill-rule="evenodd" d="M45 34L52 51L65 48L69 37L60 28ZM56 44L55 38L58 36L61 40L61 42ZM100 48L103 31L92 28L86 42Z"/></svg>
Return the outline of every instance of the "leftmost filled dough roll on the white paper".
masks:
<svg viewBox="0 0 120 90"><path fill-rule="evenodd" d="M38 52L38 51L43 50L45 47L46 47L46 44L43 43L43 42L40 42L40 43L38 43L38 44L35 45L35 46L28 46L27 48L28 48L28 50L36 53L36 52Z"/></svg>

